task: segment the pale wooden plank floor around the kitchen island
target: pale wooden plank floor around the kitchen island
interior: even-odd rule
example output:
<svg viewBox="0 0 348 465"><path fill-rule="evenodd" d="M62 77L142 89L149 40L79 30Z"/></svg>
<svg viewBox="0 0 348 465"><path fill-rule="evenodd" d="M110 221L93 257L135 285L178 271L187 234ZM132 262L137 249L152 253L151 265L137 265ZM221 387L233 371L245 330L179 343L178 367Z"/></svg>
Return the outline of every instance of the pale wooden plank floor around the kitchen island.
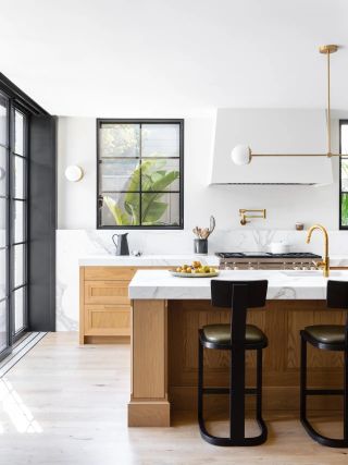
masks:
<svg viewBox="0 0 348 465"><path fill-rule="evenodd" d="M202 441L190 413L175 414L172 428L128 429L128 345L79 346L77 333L48 334L0 381L0 464L348 463L348 449L316 444L288 412L265 414L266 444L228 449ZM336 421L322 426L339 435Z"/></svg>

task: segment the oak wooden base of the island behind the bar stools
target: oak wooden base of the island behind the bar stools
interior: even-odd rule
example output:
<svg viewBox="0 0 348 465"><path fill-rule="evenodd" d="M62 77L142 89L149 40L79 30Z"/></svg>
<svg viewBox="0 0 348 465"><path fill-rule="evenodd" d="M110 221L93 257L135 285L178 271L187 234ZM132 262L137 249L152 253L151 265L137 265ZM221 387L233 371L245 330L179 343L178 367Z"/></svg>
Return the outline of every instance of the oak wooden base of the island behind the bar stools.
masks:
<svg viewBox="0 0 348 465"><path fill-rule="evenodd" d="M172 409L196 409L198 329L228 322L229 310L209 301L137 299L132 303L132 396L128 426L170 426ZM324 301L268 301L248 314L269 338L263 355L264 411L299 409L299 331L309 325L344 325L345 313ZM206 386L228 386L228 352L206 351ZM247 353L246 384L254 382L256 356ZM313 388L343 386L343 356L308 351L308 382ZM224 397L224 396L223 396ZM248 400L251 407L251 399ZM341 408L338 396L309 399L310 409ZM207 409L227 406L227 396L208 396Z"/></svg>

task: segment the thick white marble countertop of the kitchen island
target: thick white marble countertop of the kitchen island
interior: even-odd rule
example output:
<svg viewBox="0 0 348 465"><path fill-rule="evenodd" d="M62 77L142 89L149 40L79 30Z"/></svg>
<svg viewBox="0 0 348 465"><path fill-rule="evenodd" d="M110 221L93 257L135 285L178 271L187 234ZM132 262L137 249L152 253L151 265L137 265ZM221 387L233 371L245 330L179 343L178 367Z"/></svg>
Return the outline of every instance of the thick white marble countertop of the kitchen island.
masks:
<svg viewBox="0 0 348 465"><path fill-rule="evenodd" d="M268 299L325 299L322 271L221 271L214 279L269 281ZM348 281L348 270L332 270L330 279ZM130 298L210 299L209 278L176 278L167 270L139 270L129 284Z"/></svg>

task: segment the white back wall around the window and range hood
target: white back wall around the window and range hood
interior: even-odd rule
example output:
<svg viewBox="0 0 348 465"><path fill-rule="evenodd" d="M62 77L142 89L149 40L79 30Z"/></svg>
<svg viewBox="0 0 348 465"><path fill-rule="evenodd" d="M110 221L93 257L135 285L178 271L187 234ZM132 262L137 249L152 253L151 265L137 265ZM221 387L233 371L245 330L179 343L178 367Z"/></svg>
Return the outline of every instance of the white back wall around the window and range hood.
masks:
<svg viewBox="0 0 348 465"><path fill-rule="evenodd" d="M338 134L336 124L334 133ZM185 119L185 229L208 224L210 215L215 216L220 230L291 230L298 221L338 228L337 159L333 161L335 183L328 186L208 186L213 134L213 117ZM60 118L58 154L59 229L96 229L96 120ZM274 169L281 170L281 163L274 159ZM82 182L65 180L69 164L82 166ZM266 208L268 219L240 227L239 208ZM132 232L137 234L144 233Z"/></svg>

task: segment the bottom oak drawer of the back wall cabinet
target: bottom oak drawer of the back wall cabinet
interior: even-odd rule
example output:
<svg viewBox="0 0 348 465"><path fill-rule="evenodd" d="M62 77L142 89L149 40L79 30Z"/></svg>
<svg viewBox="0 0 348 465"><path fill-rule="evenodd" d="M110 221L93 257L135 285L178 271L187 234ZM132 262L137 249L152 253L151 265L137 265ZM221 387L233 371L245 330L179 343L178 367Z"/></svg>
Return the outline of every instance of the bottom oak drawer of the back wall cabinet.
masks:
<svg viewBox="0 0 348 465"><path fill-rule="evenodd" d="M129 335L130 307L127 305L86 305L86 335Z"/></svg>

